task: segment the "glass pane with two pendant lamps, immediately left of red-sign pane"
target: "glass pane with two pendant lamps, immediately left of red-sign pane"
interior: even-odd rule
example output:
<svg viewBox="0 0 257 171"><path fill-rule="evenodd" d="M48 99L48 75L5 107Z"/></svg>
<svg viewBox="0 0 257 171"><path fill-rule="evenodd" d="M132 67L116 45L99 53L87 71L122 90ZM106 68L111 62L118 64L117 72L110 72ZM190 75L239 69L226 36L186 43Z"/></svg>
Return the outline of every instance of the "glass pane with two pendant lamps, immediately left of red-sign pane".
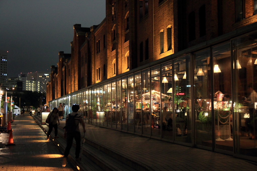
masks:
<svg viewBox="0 0 257 171"><path fill-rule="evenodd" d="M172 62L161 66L162 138L173 140Z"/></svg>

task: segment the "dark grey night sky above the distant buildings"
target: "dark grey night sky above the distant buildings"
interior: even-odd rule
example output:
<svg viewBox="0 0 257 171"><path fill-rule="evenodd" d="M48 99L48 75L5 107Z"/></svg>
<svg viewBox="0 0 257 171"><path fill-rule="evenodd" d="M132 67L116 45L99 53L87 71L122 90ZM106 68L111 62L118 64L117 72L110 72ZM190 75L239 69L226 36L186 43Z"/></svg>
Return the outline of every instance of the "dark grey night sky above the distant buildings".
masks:
<svg viewBox="0 0 257 171"><path fill-rule="evenodd" d="M7 77L47 72L58 52L70 53L73 25L105 18L105 0L0 0L0 50L8 51Z"/></svg>

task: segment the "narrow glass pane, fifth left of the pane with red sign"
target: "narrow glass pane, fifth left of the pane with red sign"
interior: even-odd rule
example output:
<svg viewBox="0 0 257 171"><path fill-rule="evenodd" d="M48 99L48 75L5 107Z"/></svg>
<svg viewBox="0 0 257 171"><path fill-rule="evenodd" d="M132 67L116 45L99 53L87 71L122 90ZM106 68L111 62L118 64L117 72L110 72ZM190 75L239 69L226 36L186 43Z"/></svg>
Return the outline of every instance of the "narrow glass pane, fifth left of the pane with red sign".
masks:
<svg viewBox="0 0 257 171"><path fill-rule="evenodd" d="M134 79L128 75L128 131L134 132Z"/></svg>

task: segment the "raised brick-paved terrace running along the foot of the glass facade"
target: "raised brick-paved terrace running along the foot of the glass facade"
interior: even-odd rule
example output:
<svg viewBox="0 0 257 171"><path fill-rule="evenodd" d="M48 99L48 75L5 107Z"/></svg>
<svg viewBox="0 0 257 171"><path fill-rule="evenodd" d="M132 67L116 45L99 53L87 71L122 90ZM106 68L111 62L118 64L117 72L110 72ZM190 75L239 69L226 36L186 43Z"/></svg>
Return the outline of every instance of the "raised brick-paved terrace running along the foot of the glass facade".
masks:
<svg viewBox="0 0 257 171"><path fill-rule="evenodd" d="M60 123L62 128L65 121ZM148 170L257 170L257 165L230 155L91 124L86 124L86 129L85 137L90 141L141 163ZM80 130L82 132L82 128Z"/></svg>

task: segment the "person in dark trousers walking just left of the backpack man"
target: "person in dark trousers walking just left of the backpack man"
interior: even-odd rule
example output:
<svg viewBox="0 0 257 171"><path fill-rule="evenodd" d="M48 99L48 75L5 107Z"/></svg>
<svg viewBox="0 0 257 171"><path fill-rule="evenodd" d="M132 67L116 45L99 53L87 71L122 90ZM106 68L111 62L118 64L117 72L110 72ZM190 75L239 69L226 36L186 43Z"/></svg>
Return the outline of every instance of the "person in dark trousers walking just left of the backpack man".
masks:
<svg viewBox="0 0 257 171"><path fill-rule="evenodd" d="M53 128L54 128L54 138L59 138L57 136L57 133L58 133L58 125L60 125L60 122L59 122L58 109L56 107L53 108L52 112L49 113L49 115L47 116L47 120L49 121L49 130L47 133L47 140L50 139L50 134ZM58 125L57 125L57 121L58 121Z"/></svg>

